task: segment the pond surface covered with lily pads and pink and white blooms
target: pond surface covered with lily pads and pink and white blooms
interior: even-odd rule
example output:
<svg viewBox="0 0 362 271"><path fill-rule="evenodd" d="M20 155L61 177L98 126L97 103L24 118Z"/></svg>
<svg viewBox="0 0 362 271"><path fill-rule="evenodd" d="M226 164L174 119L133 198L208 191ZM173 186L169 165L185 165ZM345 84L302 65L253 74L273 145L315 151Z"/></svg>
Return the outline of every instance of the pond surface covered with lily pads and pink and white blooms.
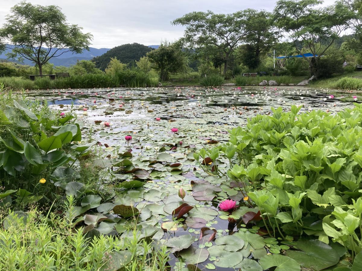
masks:
<svg viewBox="0 0 362 271"><path fill-rule="evenodd" d="M186 262L198 263L201 270L247 270L249 266L244 266L244 261L235 259L257 261L271 245L266 243L266 249L260 249L251 240L239 250L224 251L226 245L209 240L210 234L199 238L201 227L214 228L216 240L231 234L237 229L228 223L228 216L242 217L243 210L252 208L241 203L240 209L232 213L220 211L218 202L229 198L243 202L243 195L226 185L226 179L203 172L192 158L193 152L226 142L228 129L244 125L257 114L272 114L271 107L290 110L291 105L304 105L301 112L323 110L334 114L346 107L353 108L353 103L361 99L346 91L298 87L68 89L29 91L27 95L46 101L59 112L67 114L72 110L84 122L85 139L97 140L105 156L113 161L131 163L123 172L112 173L113 177L120 183L140 180L143 186L127 190L116 185L121 195L119 203L134 202L142 214L142 226L160 229L162 224L165 232L157 232L157 238L165 241L193 236L193 247L181 250L180 255ZM178 132L171 132L171 128L178 128ZM128 143L126 135L132 136ZM226 169L227 163L219 168ZM177 196L181 187L187 191L184 202ZM206 189L214 189L214 199L203 198L205 195L195 198ZM186 218L187 225L184 218L176 224L172 221L172 211L182 203L195 207ZM105 225L102 223L107 222L100 226ZM241 228L245 229L245 225ZM197 259L193 255L198 255ZM177 253L171 256L169 264L175 266ZM260 270L258 265L251 266L254 269L248 270ZM187 268L178 263L173 270Z"/></svg>

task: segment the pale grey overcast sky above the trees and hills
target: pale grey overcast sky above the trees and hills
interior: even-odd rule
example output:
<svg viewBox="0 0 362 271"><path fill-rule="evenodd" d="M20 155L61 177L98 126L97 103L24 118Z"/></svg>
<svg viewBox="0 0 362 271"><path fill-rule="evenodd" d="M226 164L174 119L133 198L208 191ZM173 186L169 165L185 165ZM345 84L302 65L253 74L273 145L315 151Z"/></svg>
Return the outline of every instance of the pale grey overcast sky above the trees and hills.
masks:
<svg viewBox="0 0 362 271"><path fill-rule="evenodd" d="M20 1L1 0L0 25L10 8ZM273 10L275 0L32 0L32 4L59 5L68 22L93 34L92 47L113 48L138 42L158 45L182 37L183 27L171 21L193 11L233 13L253 8ZM334 0L325 0L332 4Z"/></svg>

